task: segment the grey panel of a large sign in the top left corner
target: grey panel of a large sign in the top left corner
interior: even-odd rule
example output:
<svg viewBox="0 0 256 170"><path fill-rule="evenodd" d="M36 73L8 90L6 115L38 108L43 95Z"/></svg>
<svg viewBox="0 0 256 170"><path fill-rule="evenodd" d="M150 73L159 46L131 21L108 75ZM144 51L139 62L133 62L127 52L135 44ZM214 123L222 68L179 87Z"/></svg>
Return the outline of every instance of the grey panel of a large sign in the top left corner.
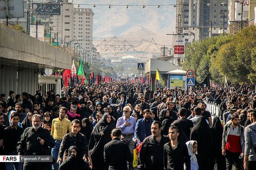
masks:
<svg viewBox="0 0 256 170"><path fill-rule="evenodd" d="M6 2L8 8L6 8ZM7 15L9 15L10 19L24 17L23 0L0 1L0 18L6 18Z"/></svg>

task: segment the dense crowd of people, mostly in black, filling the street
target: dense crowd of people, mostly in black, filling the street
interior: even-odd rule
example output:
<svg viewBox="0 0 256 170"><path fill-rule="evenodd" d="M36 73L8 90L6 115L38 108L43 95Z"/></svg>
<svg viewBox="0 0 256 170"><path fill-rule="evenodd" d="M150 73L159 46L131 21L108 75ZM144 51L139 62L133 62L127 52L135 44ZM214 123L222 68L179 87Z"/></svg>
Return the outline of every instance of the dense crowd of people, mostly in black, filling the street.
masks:
<svg viewBox="0 0 256 170"><path fill-rule="evenodd" d="M220 117L206 103L220 107ZM112 81L42 94L1 94L0 155L52 162L0 169L255 169L256 94ZM134 153L134 149L136 151ZM137 159L138 156L138 159Z"/></svg>

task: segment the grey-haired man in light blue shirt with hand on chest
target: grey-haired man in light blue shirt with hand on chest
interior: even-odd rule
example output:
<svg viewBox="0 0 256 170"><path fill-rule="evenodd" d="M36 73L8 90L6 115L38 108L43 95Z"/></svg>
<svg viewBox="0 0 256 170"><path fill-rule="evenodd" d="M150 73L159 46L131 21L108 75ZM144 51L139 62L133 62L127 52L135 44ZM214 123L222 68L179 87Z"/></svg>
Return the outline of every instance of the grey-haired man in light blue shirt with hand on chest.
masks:
<svg viewBox="0 0 256 170"><path fill-rule="evenodd" d="M123 109L123 116L119 117L116 123L116 128L121 129L122 137L121 140L129 146L131 155L133 156L134 141L134 130L136 126L136 120L130 116L132 109L129 106L125 106ZM129 163L129 169L133 169L132 162Z"/></svg>

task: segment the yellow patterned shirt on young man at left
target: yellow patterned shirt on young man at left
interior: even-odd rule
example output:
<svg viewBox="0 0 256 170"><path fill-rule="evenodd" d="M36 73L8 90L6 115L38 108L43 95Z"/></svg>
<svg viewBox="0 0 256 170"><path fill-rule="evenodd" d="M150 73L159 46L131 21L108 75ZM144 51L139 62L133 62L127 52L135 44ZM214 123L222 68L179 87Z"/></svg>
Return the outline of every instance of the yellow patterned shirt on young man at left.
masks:
<svg viewBox="0 0 256 170"><path fill-rule="evenodd" d="M71 122L64 118L60 121L59 117L52 120L51 135L54 140L62 140L67 132L71 132Z"/></svg>

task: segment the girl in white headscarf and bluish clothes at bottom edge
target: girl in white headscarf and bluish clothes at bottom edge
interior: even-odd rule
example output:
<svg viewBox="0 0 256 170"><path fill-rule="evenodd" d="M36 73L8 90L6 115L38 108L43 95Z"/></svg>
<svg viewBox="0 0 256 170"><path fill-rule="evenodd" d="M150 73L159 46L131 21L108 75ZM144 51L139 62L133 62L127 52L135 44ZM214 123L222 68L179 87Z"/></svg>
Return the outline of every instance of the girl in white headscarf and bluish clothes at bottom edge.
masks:
<svg viewBox="0 0 256 170"><path fill-rule="evenodd" d="M197 162L197 142L195 140L190 140L186 142L188 147L188 154L190 156L190 169L191 170L198 170L198 162Z"/></svg>

